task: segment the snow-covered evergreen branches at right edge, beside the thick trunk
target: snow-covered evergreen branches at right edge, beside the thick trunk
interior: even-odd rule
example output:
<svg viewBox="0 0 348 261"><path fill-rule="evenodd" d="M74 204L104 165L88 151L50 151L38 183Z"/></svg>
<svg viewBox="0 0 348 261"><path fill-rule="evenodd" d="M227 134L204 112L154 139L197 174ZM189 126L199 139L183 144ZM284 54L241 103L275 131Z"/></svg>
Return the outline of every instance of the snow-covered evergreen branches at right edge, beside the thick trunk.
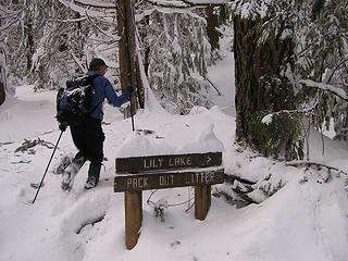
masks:
<svg viewBox="0 0 348 261"><path fill-rule="evenodd" d="M298 39L296 73L307 87L302 92L318 101L313 112L313 124L321 129L335 120L336 138L348 138L348 108L343 96L348 90L348 1L307 1L296 21ZM310 80L308 80L310 79ZM310 84L312 82L312 84ZM322 86L332 86L323 89ZM308 87L314 87L309 89ZM332 91L335 89L335 91Z"/></svg>

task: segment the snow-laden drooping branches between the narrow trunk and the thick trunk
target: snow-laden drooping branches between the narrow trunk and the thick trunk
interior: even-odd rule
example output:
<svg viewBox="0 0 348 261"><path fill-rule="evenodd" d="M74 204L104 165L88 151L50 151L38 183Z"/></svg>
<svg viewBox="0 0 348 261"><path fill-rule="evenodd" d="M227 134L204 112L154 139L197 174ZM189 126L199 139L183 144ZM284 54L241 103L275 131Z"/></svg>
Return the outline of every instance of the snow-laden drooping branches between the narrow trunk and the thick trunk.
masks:
<svg viewBox="0 0 348 261"><path fill-rule="evenodd" d="M146 35L140 47L148 50L150 86L172 113L186 114L194 105L211 105L201 85L211 64L211 47L207 21L199 14L158 8L139 29Z"/></svg>

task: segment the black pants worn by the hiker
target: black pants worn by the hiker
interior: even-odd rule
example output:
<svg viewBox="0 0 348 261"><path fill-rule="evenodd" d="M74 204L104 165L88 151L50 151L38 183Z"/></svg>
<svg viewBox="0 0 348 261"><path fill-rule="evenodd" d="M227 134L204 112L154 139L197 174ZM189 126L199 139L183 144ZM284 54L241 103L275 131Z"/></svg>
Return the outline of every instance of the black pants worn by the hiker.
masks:
<svg viewBox="0 0 348 261"><path fill-rule="evenodd" d="M88 178L95 177L98 183L103 159L103 141L105 139L101 128L101 120L87 117L80 125L71 126L70 129L73 141L79 150L73 162L79 170L86 160L89 160ZM78 172L78 170L76 171Z"/></svg>

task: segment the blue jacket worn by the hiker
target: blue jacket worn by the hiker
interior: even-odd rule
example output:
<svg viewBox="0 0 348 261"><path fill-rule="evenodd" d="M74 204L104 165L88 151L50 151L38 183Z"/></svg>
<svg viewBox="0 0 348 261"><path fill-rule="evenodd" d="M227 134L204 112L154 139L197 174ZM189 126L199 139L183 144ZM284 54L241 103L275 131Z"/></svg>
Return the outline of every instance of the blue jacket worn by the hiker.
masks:
<svg viewBox="0 0 348 261"><path fill-rule="evenodd" d="M88 71L88 75L96 75L95 71ZM107 98L109 104L114 107L121 107L124 102L129 100L130 94L129 91L123 91L121 96L116 96L110 80L104 76L97 76L94 79L94 87L96 94L92 96L91 99L91 108L96 108L90 116L102 120L104 112L103 112L103 101Z"/></svg>

